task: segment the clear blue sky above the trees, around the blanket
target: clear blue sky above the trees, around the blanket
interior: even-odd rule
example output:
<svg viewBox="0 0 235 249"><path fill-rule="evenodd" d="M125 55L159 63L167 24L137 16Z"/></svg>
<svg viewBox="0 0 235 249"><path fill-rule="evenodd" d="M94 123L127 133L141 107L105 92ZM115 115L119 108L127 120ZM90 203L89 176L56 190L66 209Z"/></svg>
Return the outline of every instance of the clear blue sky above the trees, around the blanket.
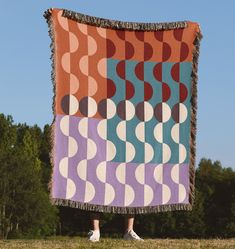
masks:
<svg viewBox="0 0 235 249"><path fill-rule="evenodd" d="M52 122L47 8L123 21L200 23L197 163L206 157L235 169L235 1L71 0L0 2L0 112L43 128Z"/></svg>

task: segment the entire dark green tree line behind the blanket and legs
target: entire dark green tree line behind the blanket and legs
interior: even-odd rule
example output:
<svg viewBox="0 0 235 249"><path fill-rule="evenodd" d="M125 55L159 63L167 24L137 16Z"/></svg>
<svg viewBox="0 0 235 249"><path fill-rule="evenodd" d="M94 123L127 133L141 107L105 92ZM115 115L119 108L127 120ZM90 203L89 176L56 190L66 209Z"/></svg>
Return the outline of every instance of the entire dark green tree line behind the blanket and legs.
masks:
<svg viewBox="0 0 235 249"><path fill-rule="evenodd" d="M0 238L85 235L90 212L51 205L50 125L15 124L0 114ZM135 230L149 238L235 237L235 170L202 158L196 168L192 211L136 215ZM119 237L124 215L102 214L102 234Z"/></svg>

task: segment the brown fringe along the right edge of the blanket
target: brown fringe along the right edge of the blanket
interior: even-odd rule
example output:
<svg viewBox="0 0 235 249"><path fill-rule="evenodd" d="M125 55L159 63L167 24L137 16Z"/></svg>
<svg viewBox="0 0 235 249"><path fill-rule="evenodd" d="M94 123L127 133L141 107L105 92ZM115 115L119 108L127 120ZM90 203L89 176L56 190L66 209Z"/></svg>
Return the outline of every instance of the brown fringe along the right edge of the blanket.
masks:
<svg viewBox="0 0 235 249"><path fill-rule="evenodd" d="M189 161L189 203L194 205L195 201L195 163L196 163L196 132L197 132L197 82L198 82L198 58L200 53L200 41L202 39L202 33L199 27L199 31L196 33L193 50L193 63L191 74L191 129L190 129L190 161Z"/></svg>

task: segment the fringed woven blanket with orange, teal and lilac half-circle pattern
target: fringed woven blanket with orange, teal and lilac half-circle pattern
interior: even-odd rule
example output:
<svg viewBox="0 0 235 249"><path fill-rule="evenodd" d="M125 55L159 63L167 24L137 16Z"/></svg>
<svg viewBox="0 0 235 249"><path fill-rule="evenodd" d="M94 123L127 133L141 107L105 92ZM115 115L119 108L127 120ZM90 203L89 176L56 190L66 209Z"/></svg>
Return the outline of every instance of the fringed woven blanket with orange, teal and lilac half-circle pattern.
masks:
<svg viewBox="0 0 235 249"><path fill-rule="evenodd" d="M200 27L44 13L54 86L54 205L192 210Z"/></svg>

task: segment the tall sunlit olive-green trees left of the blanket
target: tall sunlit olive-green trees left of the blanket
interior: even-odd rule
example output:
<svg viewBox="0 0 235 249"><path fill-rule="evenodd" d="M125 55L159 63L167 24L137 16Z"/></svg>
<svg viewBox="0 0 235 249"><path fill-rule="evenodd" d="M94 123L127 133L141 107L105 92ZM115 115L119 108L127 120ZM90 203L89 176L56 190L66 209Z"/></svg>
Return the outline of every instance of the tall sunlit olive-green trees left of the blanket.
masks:
<svg viewBox="0 0 235 249"><path fill-rule="evenodd" d="M1 237L52 234L58 221L57 208L42 185L40 129L13 125L13 120L3 115L0 127Z"/></svg>

